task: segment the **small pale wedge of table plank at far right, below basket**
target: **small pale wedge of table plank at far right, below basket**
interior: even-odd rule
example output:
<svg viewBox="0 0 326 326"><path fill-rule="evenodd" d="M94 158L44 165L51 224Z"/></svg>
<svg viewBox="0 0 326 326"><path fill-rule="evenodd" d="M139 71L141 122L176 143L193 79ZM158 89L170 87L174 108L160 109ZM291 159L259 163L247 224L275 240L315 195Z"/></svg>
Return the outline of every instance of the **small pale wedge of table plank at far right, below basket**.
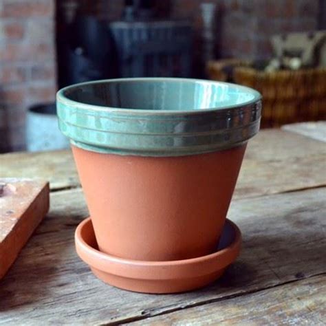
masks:
<svg viewBox="0 0 326 326"><path fill-rule="evenodd" d="M281 129L326 142L326 121L285 124Z"/></svg>

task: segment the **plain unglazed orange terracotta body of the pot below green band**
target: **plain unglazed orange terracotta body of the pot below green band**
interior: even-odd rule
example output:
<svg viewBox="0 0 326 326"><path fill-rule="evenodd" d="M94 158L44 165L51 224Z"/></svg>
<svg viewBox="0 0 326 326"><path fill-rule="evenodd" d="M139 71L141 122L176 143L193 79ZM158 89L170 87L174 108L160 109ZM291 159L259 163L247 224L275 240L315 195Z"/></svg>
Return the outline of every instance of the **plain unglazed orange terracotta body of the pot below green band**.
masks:
<svg viewBox="0 0 326 326"><path fill-rule="evenodd" d="M213 252L245 149L146 157L72 146L99 249L143 261Z"/></svg>

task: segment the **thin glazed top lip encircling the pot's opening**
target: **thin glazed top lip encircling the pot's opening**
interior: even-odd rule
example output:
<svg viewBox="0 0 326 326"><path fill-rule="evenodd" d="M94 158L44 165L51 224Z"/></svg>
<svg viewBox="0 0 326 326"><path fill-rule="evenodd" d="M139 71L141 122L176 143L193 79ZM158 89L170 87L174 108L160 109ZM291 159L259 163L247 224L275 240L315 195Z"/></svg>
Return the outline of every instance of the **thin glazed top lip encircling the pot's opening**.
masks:
<svg viewBox="0 0 326 326"><path fill-rule="evenodd" d="M207 85L228 85L230 87L234 87L235 89L242 89L253 95L252 100L243 101L236 105L225 105L223 107L210 107L204 109L186 109L186 110L157 110L157 109L132 109L132 108L124 108L124 107L111 107L111 106L101 106L101 105L91 105L84 102L78 102L76 100L69 99L66 95L66 92L73 91L78 87L82 87L85 85L94 85L94 84L108 84L108 83L129 83L129 82L153 82L153 81L185 81L187 83L199 83L199 84L207 84ZM92 80L83 83L77 83L74 85L69 85L60 89L56 94L56 99L65 105L69 105L72 107L78 107L78 109L92 109L96 111L105 111L105 112L116 112L116 113L127 113L127 114L140 114L142 113L146 115L153 115L153 116L184 116L186 115L200 115L205 112L214 112L214 111L228 111L230 109L237 109L240 107L246 107L247 105L252 105L259 100L262 99L261 94L259 91L252 89L250 87L246 87L243 85L237 85L235 83L226 83L221 81L215 80L206 80L206 79L198 79L198 78L164 78L164 77L140 77L140 78L114 78L114 79L102 79L102 80Z"/></svg>

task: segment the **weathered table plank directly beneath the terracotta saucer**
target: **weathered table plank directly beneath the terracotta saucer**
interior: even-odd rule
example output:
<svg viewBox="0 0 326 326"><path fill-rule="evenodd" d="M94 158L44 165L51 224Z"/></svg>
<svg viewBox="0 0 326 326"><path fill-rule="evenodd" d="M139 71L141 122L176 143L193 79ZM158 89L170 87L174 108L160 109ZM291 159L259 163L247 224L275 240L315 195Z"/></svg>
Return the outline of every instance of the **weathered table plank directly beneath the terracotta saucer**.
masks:
<svg viewBox="0 0 326 326"><path fill-rule="evenodd" d="M74 250L74 229L87 217L82 193L52 193L50 214L0 283L0 323L120 323L325 273L325 196L318 188L235 200L229 217L243 232L237 262L202 290L157 296L96 279Z"/></svg>

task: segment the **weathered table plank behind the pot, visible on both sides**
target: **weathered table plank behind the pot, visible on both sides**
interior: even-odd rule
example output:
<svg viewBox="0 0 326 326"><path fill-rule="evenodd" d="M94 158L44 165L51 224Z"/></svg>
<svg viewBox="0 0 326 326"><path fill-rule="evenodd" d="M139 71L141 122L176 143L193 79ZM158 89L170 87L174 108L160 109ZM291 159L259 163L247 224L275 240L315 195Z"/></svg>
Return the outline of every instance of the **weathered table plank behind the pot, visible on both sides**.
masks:
<svg viewBox="0 0 326 326"><path fill-rule="evenodd" d="M326 146L296 133L263 130L248 145L235 198L326 185ZM79 186L70 151L0 155L1 177L40 177L52 190Z"/></svg>

